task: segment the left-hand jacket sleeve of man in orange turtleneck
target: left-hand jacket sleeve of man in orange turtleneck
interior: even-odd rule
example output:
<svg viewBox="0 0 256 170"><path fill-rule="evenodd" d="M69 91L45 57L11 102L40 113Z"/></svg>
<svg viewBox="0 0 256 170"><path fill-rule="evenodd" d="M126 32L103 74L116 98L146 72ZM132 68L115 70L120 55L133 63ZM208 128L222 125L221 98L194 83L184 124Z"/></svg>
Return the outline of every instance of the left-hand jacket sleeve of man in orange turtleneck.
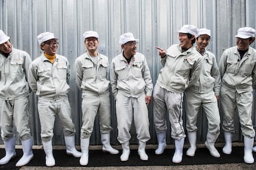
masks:
<svg viewBox="0 0 256 170"><path fill-rule="evenodd" d="M37 91L37 80L37 68L33 63L31 63L28 69L28 85L30 86L30 89L32 89L33 92Z"/></svg>

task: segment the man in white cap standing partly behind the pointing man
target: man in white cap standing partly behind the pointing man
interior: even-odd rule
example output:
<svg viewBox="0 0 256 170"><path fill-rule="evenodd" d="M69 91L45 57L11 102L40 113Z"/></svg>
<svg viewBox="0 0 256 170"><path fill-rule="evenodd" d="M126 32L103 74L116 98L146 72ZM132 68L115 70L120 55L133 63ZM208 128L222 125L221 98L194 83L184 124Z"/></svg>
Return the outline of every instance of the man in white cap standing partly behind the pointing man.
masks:
<svg viewBox="0 0 256 170"><path fill-rule="evenodd" d="M216 139L220 134L220 113L218 98L220 95L220 71L215 55L205 50L211 38L211 31L206 28L198 30L195 47L202 55L202 69L197 83L190 86L184 92L184 103L186 110L186 128L190 147L187 150L188 156L194 156L197 142L197 116L202 107L207 116L208 132L205 146L210 154L216 158L220 153L215 148Z"/></svg>

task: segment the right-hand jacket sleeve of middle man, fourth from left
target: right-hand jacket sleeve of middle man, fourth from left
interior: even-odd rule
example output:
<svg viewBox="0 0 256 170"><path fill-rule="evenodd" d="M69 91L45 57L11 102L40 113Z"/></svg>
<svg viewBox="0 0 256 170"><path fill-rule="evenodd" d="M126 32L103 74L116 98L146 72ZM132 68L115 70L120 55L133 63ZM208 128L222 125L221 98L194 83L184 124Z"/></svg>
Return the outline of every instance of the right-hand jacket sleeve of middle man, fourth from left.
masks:
<svg viewBox="0 0 256 170"><path fill-rule="evenodd" d="M146 83L146 87L145 87L146 95L151 96L153 91L153 83L150 75L150 70L148 68L148 63L145 57L144 57L142 75Z"/></svg>

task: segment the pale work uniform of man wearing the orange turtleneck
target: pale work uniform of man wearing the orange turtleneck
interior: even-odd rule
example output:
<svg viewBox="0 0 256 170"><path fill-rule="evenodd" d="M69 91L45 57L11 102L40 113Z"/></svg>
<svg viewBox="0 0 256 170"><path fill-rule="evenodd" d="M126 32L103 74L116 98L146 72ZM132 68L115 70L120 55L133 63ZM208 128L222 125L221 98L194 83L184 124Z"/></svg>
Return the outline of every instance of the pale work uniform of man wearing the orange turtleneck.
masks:
<svg viewBox="0 0 256 170"><path fill-rule="evenodd" d="M56 115L63 126L64 136L74 136L71 108L68 99L70 66L66 57L56 54L52 64L44 54L33 60L28 83L38 95L38 113L41 123L41 139L47 142L53 137Z"/></svg>

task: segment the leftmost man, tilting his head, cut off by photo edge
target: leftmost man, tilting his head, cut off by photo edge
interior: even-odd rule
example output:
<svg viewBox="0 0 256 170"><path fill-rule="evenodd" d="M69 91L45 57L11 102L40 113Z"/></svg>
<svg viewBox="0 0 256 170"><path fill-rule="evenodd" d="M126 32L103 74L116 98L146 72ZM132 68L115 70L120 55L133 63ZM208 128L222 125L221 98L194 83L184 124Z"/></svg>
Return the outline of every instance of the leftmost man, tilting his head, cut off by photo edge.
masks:
<svg viewBox="0 0 256 170"><path fill-rule="evenodd" d="M23 166L33 158L33 138L30 132L28 68L30 56L12 47L10 37L0 30L0 128L6 156L0 164L7 164L16 156L14 124L22 143L23 156L16 166Z"/></svg>

